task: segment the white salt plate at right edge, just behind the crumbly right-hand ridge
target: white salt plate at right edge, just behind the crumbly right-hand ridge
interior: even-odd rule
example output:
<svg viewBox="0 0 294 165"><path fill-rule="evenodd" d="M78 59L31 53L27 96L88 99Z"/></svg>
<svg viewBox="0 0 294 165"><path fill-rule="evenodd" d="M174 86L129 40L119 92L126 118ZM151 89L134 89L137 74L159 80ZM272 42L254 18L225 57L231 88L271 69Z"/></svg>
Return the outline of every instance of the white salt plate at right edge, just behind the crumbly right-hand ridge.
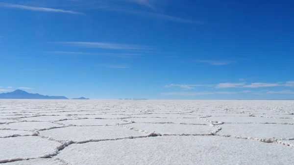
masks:
<svg viewBox="0 0 294 165"><path fill-rule="evenodd" d="M268 138L294 138L294 125L284 124L242 124L225 123L220 126L219 135L230 135L238 137L251 137L258 139Z"/></svg>

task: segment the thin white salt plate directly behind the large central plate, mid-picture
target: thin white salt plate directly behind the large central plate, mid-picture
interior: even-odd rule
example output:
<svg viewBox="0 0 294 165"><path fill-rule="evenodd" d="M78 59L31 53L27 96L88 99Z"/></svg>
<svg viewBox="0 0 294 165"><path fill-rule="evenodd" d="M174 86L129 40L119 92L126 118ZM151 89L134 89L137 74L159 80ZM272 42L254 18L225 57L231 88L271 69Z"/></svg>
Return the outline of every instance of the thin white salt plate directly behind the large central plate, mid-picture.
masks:
<svg viewBox="0 0 294 165"><path fill-rule="evenodd" d="M184 124L199 124L199 125L209 125L208 121L204 121L197 118L126 118L125 121L134 121L136 123L184 123Z"/></svg>

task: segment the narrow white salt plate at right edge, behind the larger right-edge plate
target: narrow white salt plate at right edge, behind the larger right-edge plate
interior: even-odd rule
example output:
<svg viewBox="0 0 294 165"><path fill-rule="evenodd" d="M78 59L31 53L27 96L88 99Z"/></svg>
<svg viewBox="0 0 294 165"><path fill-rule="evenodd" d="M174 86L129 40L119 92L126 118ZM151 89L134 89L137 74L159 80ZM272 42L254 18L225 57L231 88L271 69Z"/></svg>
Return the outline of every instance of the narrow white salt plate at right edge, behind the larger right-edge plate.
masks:
<svg viewBox="0 0 294 165"><path fill-rule="evenodd" d="M261 118L261 117L209 117L203 118L210 121L221 121L224 123L288 123L294 124L293 119L284 118Z"/></svg>

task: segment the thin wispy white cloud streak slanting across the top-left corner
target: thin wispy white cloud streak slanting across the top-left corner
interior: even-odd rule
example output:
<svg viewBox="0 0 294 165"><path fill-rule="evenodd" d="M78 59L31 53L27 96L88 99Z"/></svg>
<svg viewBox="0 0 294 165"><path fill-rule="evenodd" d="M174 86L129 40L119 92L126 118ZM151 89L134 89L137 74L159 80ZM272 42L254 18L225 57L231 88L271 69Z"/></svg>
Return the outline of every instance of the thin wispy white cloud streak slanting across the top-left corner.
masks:
<svg viewBox="0 0 294 165"><path fill-rule="evenodd" d="M45 8L45 7L35 7L35 6L25 6L25 5L20 5L20 4L11 4L11 3L3 3L3 2L0 2L0 7L18 8L18 9L23 9L23 10L42 11L42 12L84 14L84 13L81 13L81 12L75 12L75 11L70 11L70 10L53 9L53 8Z"/></svg>

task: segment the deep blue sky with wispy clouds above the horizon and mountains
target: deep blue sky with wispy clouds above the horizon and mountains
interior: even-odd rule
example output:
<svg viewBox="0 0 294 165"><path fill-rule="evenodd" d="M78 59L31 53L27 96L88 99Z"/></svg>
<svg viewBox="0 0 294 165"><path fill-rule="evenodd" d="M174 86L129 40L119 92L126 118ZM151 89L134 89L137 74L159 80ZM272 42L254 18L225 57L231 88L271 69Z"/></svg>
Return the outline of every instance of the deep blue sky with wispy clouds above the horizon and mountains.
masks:
<svg viewBox="0 0 294 165"><path fill-rule="evenodd" d="M290 0L0 0L0 93L294 99Z"/></svg>

